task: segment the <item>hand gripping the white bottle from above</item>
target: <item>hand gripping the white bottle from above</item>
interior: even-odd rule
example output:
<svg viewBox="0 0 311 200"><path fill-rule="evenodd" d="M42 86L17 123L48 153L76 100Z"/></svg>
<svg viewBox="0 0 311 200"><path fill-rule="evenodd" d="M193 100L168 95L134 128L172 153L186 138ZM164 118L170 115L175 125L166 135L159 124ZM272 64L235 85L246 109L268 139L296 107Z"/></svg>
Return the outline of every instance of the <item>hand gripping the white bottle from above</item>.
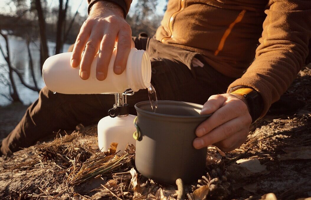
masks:
<svg viewBox="0 0 311 200"><path fill-rule="evenodd" d="M121 74L127 63L131 47L134 47L132 30L123 18L123 10L116 4L106 1L96 2L90 15L80 29L71 57L71 66L80 62L80 77L90 77L90 68L99 50L96 66L96 78L100 81L107 77L108 65L118 41L117 55L114 61L114 73ZM83 56L81 54L84 50Z"/></svg>

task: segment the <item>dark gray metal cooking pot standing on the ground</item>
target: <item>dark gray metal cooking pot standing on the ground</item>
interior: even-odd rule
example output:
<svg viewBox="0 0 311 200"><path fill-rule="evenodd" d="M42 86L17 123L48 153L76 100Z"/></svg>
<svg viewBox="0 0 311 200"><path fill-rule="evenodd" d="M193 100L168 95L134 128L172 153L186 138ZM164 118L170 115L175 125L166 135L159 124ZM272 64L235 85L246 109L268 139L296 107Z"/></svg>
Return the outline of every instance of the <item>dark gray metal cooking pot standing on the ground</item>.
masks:
<svg viewBox="0 0 311 200"><path fill-rule="evenodd" d="M197 126L210 115L200 115L202 105L182 101L158 101L156 113L150 101L135 104L137 132L135 165L152 180L174 184L200 178L205 171L207 148L195 149Z"/></svg>

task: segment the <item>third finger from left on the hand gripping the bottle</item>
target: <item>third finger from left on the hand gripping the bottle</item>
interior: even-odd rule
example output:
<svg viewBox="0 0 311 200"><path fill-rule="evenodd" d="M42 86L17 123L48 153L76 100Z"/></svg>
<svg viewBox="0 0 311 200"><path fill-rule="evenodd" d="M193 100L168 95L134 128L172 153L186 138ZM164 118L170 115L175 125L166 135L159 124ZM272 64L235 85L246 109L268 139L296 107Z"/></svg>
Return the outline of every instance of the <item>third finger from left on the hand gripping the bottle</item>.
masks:
<svg viewBox="0 0 311 200"><path fill-rule="evenodd" d="M96 78L99 81L103 81L107 77L108 66L112 52L114 51L116 37L117 33L109 31L109 33L104 34L104 37L100 43L100 51L96 66Z"/></svg>

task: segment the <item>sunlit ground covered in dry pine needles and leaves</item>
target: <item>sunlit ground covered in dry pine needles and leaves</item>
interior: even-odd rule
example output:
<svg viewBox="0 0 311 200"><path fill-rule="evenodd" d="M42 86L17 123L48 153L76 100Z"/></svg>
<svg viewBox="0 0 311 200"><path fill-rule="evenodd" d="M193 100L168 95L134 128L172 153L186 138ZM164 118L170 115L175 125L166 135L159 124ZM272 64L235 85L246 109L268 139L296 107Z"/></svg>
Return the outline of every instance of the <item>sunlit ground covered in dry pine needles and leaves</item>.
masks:
<svg viewBox="0 0 311 200"><path fill-rule="evenodd" d="M277 113L279 112L279 113ZM0 199L281 199L311 197L311 70L253 124L248 140L223 153L208 147L206 174L190 185L140 175L135 148L98 151L96 126L0 158ZM121 163L121 164L120 164ZM276 198L268 198L274 193ZM271 195L270 195L271 196Z"/></svg>

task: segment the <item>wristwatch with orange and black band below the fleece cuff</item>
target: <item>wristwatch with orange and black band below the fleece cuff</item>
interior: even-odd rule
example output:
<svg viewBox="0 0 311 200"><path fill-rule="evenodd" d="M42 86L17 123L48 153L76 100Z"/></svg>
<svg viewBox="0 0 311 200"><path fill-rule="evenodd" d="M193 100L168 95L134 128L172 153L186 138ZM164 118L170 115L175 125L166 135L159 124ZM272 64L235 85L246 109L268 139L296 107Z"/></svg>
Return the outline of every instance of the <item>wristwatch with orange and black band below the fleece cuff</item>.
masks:
<svg viewBox="0 0 311 200"><path fill-rule="evenodd" d="M252 117L252 123L254 123L261 115L263 110L263 100L261 95L252 88L239 88L230 94L238 94L243 96L248 104L249 114Z"/></svg>

